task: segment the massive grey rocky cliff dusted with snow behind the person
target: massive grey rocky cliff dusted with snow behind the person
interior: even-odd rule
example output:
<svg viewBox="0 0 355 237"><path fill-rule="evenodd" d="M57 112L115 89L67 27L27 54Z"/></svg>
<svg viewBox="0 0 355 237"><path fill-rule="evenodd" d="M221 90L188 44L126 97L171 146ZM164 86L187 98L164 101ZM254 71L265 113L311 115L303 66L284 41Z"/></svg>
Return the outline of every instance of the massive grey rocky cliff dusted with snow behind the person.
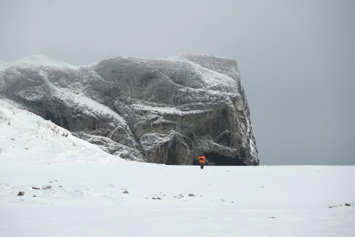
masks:
<svg viewBox="0 0 355 237"><path fill-rule="evenodd" d="M72 66L45 55L0 62L0 96L127 160L258 165L234 59L110 57Z"/></svg>

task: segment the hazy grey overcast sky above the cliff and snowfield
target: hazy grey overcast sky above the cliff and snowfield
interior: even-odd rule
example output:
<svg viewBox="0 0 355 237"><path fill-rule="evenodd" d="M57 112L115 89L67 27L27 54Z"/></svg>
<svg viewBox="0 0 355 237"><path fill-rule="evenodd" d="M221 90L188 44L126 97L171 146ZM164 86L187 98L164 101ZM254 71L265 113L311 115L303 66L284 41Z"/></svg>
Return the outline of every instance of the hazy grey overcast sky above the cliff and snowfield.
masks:
<svg viewBox="0 0 355 237"><path fill-rule="evenodd" d="M0 61L235 58L261 165L355 165L355 1L3 1Z"/></svg>

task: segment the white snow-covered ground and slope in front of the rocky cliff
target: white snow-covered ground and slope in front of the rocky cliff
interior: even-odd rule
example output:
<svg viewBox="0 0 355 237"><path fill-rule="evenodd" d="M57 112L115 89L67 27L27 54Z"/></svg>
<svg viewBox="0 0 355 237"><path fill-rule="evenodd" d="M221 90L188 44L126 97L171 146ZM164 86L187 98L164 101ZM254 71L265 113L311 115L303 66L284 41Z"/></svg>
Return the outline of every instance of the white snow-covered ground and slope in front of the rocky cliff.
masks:
<svg viewBox="0 0 355 237"><path fill-rule="evenodd" d="M126 161L15 106L0 100L1 237L355 236L355 206L329 208L355 203L354 166Z"/></svg>

